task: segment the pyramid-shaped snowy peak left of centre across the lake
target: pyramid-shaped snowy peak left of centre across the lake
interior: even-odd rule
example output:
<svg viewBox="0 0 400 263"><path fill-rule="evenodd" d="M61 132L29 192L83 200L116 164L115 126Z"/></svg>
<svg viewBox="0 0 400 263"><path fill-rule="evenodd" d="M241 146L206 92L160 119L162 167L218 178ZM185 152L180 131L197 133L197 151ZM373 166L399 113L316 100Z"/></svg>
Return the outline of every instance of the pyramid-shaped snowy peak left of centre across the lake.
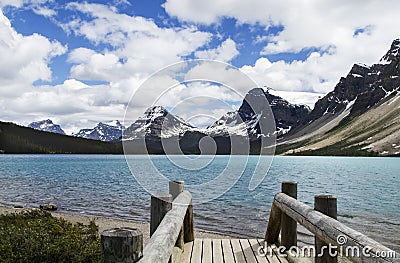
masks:
<svg viewBox="0 0 400 263"><path fill-rule="evenodd" d="M193 130L196 130L196 128L169 113L164 107L153 106L148 108L142 117L139 117L125 130L123 138L170 138Z"/></svg>

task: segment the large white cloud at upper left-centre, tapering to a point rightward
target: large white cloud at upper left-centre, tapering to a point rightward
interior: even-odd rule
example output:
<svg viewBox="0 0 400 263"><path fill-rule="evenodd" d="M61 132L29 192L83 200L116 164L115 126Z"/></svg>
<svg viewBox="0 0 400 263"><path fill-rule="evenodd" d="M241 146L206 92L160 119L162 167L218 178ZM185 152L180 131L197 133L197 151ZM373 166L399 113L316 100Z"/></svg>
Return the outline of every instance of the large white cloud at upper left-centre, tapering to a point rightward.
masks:
<svg viewBox="0 0 400 263"><path fill-rule="evenodd" d="M161 28L153 20L120 14L100 4L70 3L68 8L89 15L88 21L70 21L64 28L95 44L114 46L94 52L79 48L71 52L75 63L71 75L87 80L117 81L132 74L147 76L181 61L208 43L211 34L196 27Z"/></svg>

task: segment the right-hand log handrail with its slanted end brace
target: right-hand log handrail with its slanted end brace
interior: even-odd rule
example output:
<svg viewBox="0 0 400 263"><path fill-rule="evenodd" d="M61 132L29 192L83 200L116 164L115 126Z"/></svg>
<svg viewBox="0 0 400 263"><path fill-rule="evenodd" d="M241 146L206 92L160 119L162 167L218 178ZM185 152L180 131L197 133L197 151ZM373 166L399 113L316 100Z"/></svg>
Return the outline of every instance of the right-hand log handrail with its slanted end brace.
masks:
<svg viewBox="0 0 400 263"><path fill-rule="evenodd" d="M279 209L279 211L276 209ZM270 222L268 223L267 242L277 239L275 235L276 233L279 234L281 227L277 220L280 220L281 213L294 219L325 243L341 246L342 251L347 251L346 249L353 251L353 248L359 248L360 253L358 255L356 253L343 253L343 256L347 256L353 262L399 262L398 259L379 257L380 252L393 250L284 193L275 195ZM268 235L268 233L274 234ZM339 236L344 237L346 242L339 244L337 240ZM364 255L363 249L367 249L371 256Z"/></svg>

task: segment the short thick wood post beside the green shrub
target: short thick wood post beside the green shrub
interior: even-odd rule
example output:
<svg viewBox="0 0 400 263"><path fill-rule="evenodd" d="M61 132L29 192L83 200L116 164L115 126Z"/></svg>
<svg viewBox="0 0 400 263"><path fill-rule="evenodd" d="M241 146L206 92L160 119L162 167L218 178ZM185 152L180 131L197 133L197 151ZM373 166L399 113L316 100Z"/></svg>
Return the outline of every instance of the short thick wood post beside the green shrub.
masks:
<svg viewBox="0 0 400 263"><path fill-rule="evenodd" d="M113 228L101 233L102 263L134 263L143 256L143 234L134 228Z"/></svg>

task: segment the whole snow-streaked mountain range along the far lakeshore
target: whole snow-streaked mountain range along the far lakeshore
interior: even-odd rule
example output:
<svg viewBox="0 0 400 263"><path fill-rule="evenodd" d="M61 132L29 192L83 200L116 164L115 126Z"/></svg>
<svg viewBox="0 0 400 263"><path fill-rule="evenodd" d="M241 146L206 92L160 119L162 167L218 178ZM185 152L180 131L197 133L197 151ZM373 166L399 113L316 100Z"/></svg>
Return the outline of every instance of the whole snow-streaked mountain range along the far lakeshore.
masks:
<svg viewBox="0 0 400 263"><path fill-rule="evenodd" d="M119 121L100 122L74 136L105 142L122 138L125 150L132 153L164 153L167 147L173 153L229 154L235 140L243 147L250 144L250 153L257 154L262 150L261 138L276 136L279 154L400 156L399 89L397 39L377 64L353 65L313 110L255 88L237 111L226 113L205 129L192 126L162 106L154 106L126 129ZM262 124L270 120L271 110L276 128L263 131ZM51 120L34 122L29 127L65 134ZM216 149L201 149L205 137L213 138Z"/></svg>

